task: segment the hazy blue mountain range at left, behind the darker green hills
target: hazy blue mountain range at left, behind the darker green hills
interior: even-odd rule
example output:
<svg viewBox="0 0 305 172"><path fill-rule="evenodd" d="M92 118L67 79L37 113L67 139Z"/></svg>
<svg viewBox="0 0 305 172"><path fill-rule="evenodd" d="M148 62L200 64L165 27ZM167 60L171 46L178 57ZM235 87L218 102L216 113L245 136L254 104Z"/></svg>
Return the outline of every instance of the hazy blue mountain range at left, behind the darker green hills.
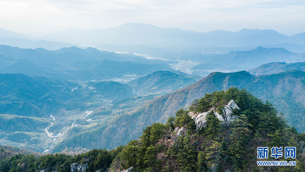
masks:
<svg viewBox="0 0 305 172"><path fill-rule="evenodd" d="M122 56L92 47L80 49L75 46L48 51L1 45L0 62L2 73L23 73L74 81L111 80L126 75L137 77L159 70L180 72L170 68L168 63L177 63L173 61L148 60L135 55Z"/></svg>

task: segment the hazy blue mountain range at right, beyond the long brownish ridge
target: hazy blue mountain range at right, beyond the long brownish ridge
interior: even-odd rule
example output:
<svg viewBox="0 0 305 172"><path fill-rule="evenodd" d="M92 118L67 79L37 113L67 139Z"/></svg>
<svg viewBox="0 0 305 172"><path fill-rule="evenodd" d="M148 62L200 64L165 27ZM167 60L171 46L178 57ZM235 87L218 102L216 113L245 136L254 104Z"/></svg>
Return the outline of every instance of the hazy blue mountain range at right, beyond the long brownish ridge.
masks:
<svg viewBox="0 0 305 172"><path fill-rule="evenodd" d="M196 58L199 60L199 58ZM231 51L229 53L214 55L209 58L202 57L203 64L191 68L193 71L241 71L256 68L262 64L275 61L295 63L305 61L305 54L293 53L284 48L257 47L249 51Z"/></svg>

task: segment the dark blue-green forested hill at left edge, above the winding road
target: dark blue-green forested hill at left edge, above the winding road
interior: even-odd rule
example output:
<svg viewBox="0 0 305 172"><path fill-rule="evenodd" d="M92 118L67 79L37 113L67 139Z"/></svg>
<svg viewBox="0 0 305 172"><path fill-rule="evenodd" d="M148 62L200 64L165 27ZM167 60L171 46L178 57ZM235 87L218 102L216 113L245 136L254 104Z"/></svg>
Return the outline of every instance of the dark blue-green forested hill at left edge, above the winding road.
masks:
<svg viewBox="0 0 305 172"><path fill-rule="evenodd" d="M71 91L79 84L23 74L0 74L0 85L2 114L49 116L64 102L82 96L78 90Z"/></svg>

